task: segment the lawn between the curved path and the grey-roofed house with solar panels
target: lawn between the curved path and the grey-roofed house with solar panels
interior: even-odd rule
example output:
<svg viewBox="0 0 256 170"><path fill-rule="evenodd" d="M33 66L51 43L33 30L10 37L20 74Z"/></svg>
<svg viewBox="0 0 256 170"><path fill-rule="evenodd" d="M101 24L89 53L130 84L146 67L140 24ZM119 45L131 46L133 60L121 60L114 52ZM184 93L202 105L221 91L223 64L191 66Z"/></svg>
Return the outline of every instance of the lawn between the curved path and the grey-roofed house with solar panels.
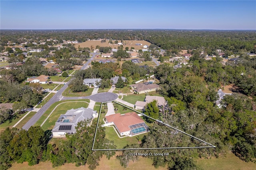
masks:
<svg viewBox="0 0 256 170"><path fill-rule="evenodd" d="M42 126L43 130L48 130L48 129L52 129L55 126L56 121L58 120L58 118L60 117L60 115L65 114L66 111L70 110L70 109L77 109L80 107L88 107L88 103L85 102L68 102L68 103L62 103L60 104L52 113L52 115L50 115L50 117L47 119L47 121L44 123L44 125ZM48 109L49 110L49 109ZM47 111L48 111L47 110ZM52 111L52 110L51 110Z"/></svg>

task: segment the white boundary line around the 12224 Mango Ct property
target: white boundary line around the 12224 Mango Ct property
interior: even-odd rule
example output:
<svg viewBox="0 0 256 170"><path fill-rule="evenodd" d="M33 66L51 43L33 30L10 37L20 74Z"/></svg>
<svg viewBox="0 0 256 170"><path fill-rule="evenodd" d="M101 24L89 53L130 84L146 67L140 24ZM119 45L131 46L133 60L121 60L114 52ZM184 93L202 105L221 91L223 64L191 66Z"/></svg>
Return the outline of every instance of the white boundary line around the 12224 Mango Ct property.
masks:
<svg viewBox="0 0 256 170"><path fill-rule="evenodd" d="M118 102L116 102L116 101L108 101L108 102L115 102L115 103L117 103L117 104L119 104L119 105L122 105L122 106L124 106L124 107L127 107L126 105L123 105L123 104L118 103ZM102 103L108 103L108 102L102 102ZM101 113L102 103L101 103L101 105L100 105L100 113ZM127 108L130 109L129 107L127 107ZM138 111L136 111L136 110L134 110L134 109L131 109L131 110L133 110L133 111L135 111L135 112L137 112L137 113L140 113L140 112L138 112ZM214 145L212 145L212 144L210 144L210 143L208 143L208 142L205 142L204 140L201 140L201 139L199 139L199 138L196 138L195 136L192 136L192 135L190 135L190 134L187 134L186 132L183 132L183 131L181 131L181 130L178 130L177 128L174 128L174 127L172 127L172 126L170 126L170 125L167 125L167 124L165 124L165 123L162 123L161 121L158 121L158 120L156 120L156 119L153 119L152 117L149 117L149 116L147 116L147 115L144 115L143 113L140 113L140 114L142 114L142 115L145 116L145 117L148 117L148 118L153 119L154 121L157 121L157 122L159 122L159 123L162 123L162 124L164 124L164 125L166 125L166 126L168 126L168 127L170 127L170 128L173 128L173 129L175 129L175 130L178 130L179 132L184 133L184 134L186 134L186 135L188 135L188 136L190 136L190 137L192 137L192 138L195 138L195 139L197 139L197 140L199 140L199 141L201 141L201 142L204 142L204 143L206 143L206 144L208 144L208 145L210 145L210 146L172 147L172 148L93 149L93 148L94 148L95 138L96 138L96 133L97 133L97 129L98 129L98 124L99 124L99 120L100 120L100 113L99 113L98 123L97 123L96 131L95 131L95 135L94 135L93 144L92 144L92 150L143 150L143 149L178 149L178 148L180 148L180 149L181 149L181 148L182 148L182 149L187 149L187 148L216 148L216 146L214 146Z"/></svg>

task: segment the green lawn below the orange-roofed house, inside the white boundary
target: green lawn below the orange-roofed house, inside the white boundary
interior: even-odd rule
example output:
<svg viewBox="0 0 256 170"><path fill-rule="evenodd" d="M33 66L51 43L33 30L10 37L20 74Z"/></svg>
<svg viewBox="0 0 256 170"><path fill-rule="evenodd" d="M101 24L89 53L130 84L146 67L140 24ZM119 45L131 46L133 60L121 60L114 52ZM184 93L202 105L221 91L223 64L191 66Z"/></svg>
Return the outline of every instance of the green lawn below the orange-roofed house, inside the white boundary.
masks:
<svg viewBox="0 0 256 170"><path fill-rule="evenodd" d="M124 146L126 146L127 144L129 144L129 145L130 144L138 144L138 140L136 139L136 137L137 136L143 137L144 135L147 134L147 133L144 133L144 134L139 134L139 135L132 136L132 137L127 136L124 138L119 138L113 127L106 127L105 132L106 132L106 138L108 140L113 140L114 144L117 146L116 148L118 148L118 149L124 148ZM102 148L102 149L105 149L105 148Z"/></svg>

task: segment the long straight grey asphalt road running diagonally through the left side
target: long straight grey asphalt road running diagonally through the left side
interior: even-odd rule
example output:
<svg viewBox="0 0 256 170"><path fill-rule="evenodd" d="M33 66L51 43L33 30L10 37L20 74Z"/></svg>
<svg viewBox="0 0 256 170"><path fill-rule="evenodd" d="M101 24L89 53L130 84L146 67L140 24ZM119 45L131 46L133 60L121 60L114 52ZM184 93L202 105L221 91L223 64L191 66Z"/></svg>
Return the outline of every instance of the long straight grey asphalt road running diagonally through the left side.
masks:
<svg viewBox="0 0 256 170"><path fill-rule="evenodd" d="M81 69L86 69L86 67L88 66L88 64L93 60L93 58L95 57L95 55L99 54L99 53L91 53L92 57L90 59L88 59L88 61L83 65L83 67ZM68 87L68 83L65 83L65 85L59 90L57 91L57 93L55 93L55 95L22 127L25 130L28 130L30 127L32 127L39 119L40 117L42 117L42 115L44 114L45 111L47 111L47 109L49 109L49 107L60 100L63 100L63 96L62 93L64 92L64 90L66 90L66 88ZM73 99L80 99L79 97L74 97ZM88 99L88 98L86 98Z"/></svg>

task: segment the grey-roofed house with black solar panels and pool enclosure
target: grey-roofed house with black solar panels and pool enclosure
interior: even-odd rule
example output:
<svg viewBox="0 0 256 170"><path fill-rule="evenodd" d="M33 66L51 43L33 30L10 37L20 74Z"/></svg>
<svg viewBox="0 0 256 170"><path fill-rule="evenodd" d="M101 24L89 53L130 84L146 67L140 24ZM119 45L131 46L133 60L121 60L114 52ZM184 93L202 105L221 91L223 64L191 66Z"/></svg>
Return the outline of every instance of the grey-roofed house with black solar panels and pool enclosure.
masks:
<svg viewBox="0 0 256 170"><path fill-rule="evenodd" d="M52 135L54 138L65 137L66 134L75 134L77 123L84 120L92 120L98 117L97 111L90 108L80 107L78 109L71 109L64 115L60 115L54 128Z"/></svg>

